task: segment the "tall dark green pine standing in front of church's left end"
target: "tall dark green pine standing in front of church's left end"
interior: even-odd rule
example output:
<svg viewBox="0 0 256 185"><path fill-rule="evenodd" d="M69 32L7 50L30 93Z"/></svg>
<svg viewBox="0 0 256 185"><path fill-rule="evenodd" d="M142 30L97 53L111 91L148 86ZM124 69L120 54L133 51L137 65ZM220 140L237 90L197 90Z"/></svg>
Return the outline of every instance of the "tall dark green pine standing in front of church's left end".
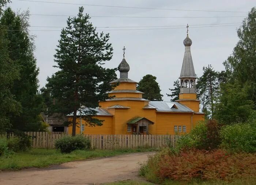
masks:
<svg viewBox="0 0 256 185"><path fill-rule="evenodd" d="M79 7L78 17L68 18L67 27L61 31L56 49L55 62L60 70L48 78L46 87L50 89L55 105L51 109L72 117L72 135L76 131L77 111L80 106L89 108L83 117L89 126L101 126L103 120L95 119L99 100L108 97L104 94L112 90L109 82L116 79L116 69L103 68L104 61L110 60L113 48L109 34L98 34L89 22L89 15Z"/></svg>

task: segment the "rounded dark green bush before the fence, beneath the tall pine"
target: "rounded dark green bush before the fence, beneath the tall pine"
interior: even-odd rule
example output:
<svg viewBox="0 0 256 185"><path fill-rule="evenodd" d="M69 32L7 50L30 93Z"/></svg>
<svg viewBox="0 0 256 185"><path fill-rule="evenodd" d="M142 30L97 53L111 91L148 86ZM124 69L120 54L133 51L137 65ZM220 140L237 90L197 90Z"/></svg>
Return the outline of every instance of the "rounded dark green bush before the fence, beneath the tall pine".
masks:
<svg viewBox="0 0 256 185"><path fill-rule="evenodd" d="M89 138L83 135L66 136L58 139L55 142L56 149L59 149L61 153L70 153L74 150L89 150L91 142Z"/></svg>

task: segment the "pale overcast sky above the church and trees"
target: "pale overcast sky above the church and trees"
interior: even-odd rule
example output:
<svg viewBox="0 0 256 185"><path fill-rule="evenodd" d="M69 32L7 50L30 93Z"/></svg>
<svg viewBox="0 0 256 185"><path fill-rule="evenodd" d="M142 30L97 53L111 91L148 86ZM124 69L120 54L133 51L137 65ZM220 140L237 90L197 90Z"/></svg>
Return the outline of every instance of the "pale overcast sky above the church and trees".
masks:
<svg viewBox="0 0 256 185"><path fill-rule="evenodd" d="M91 17L90 21L94 27L97 27L99 32L104 30L104 33L110 34L109 42L112 43L114 53L113 58L110 61L106 61L104 67L117 67L123 59L122 48L125 46L125 59L130 66L128 78L139 82L144 75L151 74L156 76L161 94L164 95L164 101L170 100L166 93L170 94L169 88L173 87L173 82L180 76L184 56L183 40L187 36L185 25L190 25L191 54L197 76L202 75L203 67L208 66L208 64L211 64L214 70L221 71L224 70L222 63L232 54L233 48L238 41L237 28L251 8L255 6L254 0L41 0L74 4L31 1L12 0L9 6L14 11L26 11L27 9L30 11L30 34L36 36L34 40L36 47L35 57L40 70L38 76L40 88L45 86L48 76L50 77L54 72L58 71L58 68L53 67L53 65L56 65L53 55L60 39L61 28L67 25L68 16L72 17L78 14L78 9L82 6L78 4L87 4L83 5L84 13L89 13L90 16L136 17ZM158 9L101 7L89 6L88 4ZM204 11L174 11L166 9ZM234 12L210 12L205 10ZM234 24L223 26L227 25L224 23ZM204 25L196 26L200 24ZM170 25L174 27L167 27ZM117 76L119 78L118 71Z"/></svg>

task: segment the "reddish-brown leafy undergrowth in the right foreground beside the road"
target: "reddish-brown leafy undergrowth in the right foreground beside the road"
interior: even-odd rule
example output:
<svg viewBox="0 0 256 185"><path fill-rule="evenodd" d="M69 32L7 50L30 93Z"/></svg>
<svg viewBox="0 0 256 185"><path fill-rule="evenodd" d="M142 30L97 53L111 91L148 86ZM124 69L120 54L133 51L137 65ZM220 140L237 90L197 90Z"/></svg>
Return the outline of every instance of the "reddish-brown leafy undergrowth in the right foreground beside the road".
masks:
<svg viewBox="0 0 256 185"><path fill-rule="evenodd" d="M161 183L166 179L229 182L255 176L255 165L256 154L230 154L220 149L211 151L192 149L182 150L180 153L164 151L149 157L147 163L140 169L140 173L147 180L153 180L155 183Z"/></svg>

